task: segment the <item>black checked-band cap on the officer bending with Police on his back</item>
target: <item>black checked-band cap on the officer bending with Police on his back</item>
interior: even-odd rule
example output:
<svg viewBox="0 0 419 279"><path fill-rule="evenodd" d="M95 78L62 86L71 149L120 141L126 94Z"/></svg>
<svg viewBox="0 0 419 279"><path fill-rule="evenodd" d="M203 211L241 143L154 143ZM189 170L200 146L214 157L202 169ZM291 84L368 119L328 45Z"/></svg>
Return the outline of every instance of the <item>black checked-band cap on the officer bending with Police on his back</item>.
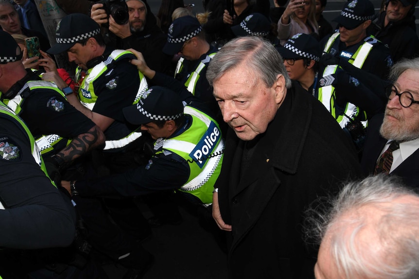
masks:
<svg viewBox="0 0 419 279"><path fill-rule="evenodd" d="M183 115L183 102L171 89L153 86L137 104L123 109L126 120L134 125L154 120L173 120Z"/></svg>

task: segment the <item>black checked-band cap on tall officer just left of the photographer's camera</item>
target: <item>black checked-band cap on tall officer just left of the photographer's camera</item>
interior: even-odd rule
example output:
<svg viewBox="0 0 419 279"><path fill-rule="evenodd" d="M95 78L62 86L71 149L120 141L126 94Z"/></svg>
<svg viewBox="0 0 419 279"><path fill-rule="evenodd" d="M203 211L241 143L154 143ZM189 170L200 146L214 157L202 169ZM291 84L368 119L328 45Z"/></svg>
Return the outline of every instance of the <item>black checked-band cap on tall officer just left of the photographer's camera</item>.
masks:
<svg viewBox="0 0 419 279"><path fill-rule="evenodd" d="M50 54L69 50L77 42L93 37L101 31L99 24L84 14L70 14L58 22L55 32L56 44L48 49Z"/></svg>

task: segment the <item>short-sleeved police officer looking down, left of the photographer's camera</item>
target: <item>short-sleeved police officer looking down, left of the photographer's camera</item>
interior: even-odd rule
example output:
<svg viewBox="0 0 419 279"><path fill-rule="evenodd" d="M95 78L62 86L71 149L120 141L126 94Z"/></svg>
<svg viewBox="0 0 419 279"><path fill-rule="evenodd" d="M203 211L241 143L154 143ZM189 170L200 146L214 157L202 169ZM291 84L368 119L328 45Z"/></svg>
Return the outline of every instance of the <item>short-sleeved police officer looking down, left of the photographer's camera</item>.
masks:
<svg viewBox="0 0 419 279"><path fill-rule="evenodd" d="M77 95L68 96L69 102L105 133L103 152L93 156L93 163L98 167L92 176L105 176L134 167L140 156L136 152L141 142L140 127L127 123L122 109L137 103L148 89L142 73L129 63L135 55L106 47L99 25L83 14L65 16L57 26L56 41L48 52L67 51L69 61L78 65L76 80L80 87L75 92ZM56 71L45 73L43 79L65 84ZM145 234L151 230L132 202L105 200L114 221L123 226L124 230L121 230L109 221L101 199L75 197L74 200L86 221L92 246L129 268L127 278L140 276L151 266L151 254L135 243L136 239L142 239L139 236L142 230L146 230Z"/></svg>

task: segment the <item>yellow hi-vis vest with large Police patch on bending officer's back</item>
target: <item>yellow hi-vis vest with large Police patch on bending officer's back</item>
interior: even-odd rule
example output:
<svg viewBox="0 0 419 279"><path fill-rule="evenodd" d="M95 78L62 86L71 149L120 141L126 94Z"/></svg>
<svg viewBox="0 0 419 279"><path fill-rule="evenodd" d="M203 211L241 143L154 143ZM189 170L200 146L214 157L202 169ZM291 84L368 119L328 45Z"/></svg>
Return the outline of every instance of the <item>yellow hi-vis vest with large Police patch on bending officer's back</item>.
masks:
<svg viewBox="0 0 419 279"><path fill-rule="evenodd" d="M164 140L163 149L174 152L189 163L190 176L179 190L198 197L208 206L212 203L213 185L221 170L224 140L210 116L189 106L185 107L184 114L192 116L191 127L175 138ZM191 138L196 143L188 141Z"/></svg>

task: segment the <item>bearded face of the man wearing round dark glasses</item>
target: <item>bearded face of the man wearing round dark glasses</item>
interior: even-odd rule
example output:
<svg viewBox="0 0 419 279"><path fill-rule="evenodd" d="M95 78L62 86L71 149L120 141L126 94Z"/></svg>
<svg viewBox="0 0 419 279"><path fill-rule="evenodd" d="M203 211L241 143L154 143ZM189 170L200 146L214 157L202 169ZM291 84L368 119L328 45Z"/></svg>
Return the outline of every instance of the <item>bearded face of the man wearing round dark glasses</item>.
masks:
<svg viewBox="0 0 419 279"><path fill-rule="evenodd" d="M419 71L406 70L400 75L394 86L399 93L410 92L413 100L419 100L418 76ZM411 106L405 108L400 104L398 96L392 97L387 102L380 133L385 139L399 142L419 138L419 104L412 103Z"/></svg>

